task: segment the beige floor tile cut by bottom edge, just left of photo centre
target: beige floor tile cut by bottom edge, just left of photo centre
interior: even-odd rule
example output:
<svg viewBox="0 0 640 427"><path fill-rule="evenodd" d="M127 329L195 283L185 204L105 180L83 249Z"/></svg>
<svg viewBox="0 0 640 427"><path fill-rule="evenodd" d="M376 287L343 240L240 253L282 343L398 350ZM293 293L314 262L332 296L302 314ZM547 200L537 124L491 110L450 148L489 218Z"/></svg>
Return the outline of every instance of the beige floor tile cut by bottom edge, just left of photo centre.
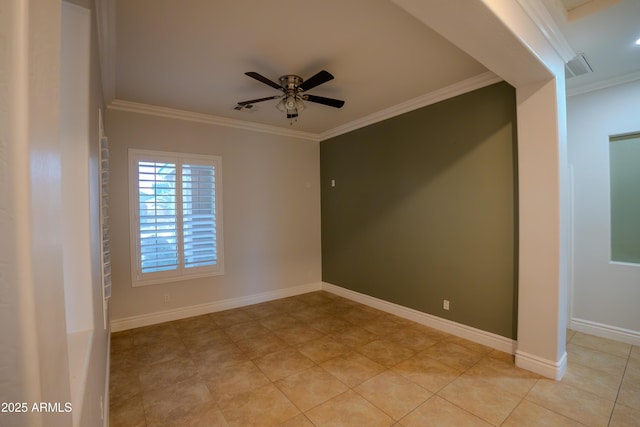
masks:
<svg viewBox="0 0 640 427"><path fill-rule="evenodd" d="M273 384L226 398L219 407L230 427L278 426L300 415Z"/></svg>

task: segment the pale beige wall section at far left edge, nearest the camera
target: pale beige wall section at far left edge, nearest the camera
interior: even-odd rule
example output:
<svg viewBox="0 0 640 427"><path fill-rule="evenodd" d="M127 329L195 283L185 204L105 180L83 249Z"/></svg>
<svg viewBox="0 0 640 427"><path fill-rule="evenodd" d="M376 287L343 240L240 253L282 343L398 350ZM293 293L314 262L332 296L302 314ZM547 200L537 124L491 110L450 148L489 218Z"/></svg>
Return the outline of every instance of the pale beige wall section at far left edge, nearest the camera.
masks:
<svg viewBox="0 0 640 427"><path fill-rule="evenodd" d="M0 13L0 401L68 402L59 144L60 1ZM71 414L0 414L68 426Z"/></svg>

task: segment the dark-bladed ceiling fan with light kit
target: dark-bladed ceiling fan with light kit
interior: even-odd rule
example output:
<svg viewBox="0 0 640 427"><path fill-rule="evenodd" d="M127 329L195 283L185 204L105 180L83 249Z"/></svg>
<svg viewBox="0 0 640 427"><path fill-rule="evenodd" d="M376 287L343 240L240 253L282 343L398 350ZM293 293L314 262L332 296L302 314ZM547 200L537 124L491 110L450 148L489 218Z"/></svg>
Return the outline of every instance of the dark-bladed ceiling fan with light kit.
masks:
<svg viewBox="0 0 640 427"><path fill-rule="evenodd" d="M282 91L282 94L238 102L238 105L234 107L234 110L250 110L253 108L253 104L257 102L280 98L280 102L278 102L276 108L283 113L286 113L287 118L291 120L291 123L293 123L294 119L297 120L298 113L305 108L303 101L315 102L317 104L328 105L334 108L341 108L344 105L344 101L339 99L325 98L324 96L308 95L304 93L309 89L333 79L331 73L325 70L316 73L308 80L303 80L300 76L287 74L278 79L280 83L271 81L255 71L249 71L245 74L259 82L271 86L274 89Z"/></svg>

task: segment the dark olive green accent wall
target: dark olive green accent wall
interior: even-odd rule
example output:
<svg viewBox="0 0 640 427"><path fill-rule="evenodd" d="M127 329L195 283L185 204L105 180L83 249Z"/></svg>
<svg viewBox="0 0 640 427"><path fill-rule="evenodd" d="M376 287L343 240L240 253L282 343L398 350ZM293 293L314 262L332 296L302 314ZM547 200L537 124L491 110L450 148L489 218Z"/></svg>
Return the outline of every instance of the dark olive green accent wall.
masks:
<svg viewBox="0 0 640 427"><path fill-rule="evenodd" d="M504 82L322 141L323 281L516 339L516 158Z"/></svg>

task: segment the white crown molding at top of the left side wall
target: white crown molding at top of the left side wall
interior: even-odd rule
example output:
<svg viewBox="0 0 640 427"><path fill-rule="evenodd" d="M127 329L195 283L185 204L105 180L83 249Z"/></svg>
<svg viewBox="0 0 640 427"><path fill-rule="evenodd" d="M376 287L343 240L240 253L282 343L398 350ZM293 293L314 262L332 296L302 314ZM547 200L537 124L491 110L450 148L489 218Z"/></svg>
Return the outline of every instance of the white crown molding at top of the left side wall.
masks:
<svg viewBox="0 0 640 427"><path fill-rule="evenodd" d="M95 0L102 96L109 104L116 97L116 4Z"/></svg>

